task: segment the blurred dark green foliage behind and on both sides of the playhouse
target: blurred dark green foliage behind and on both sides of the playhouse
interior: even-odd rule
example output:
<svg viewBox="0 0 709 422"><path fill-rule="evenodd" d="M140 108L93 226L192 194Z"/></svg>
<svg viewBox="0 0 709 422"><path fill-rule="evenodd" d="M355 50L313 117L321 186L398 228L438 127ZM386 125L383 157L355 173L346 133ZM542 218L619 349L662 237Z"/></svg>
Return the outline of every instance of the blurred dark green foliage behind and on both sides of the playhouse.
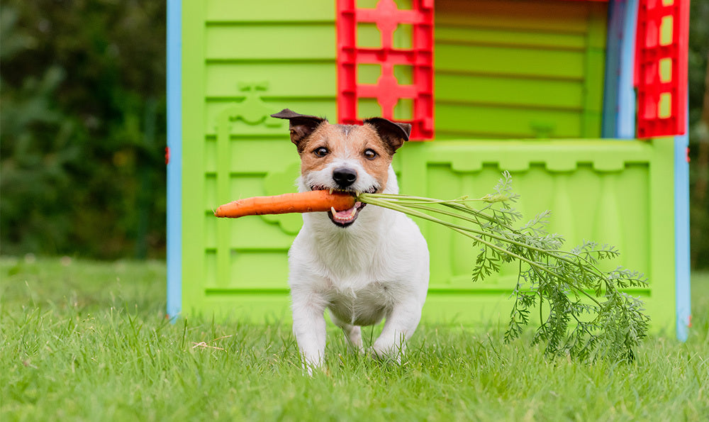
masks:
<svg viewBox="0 0 709 422"><path fill-rule="evenodd" d="M709 0L691 19L693 264L709 267L709 195L693 189ZM1 253L164 256L165 130L163 1L2 1Z"/></svg>

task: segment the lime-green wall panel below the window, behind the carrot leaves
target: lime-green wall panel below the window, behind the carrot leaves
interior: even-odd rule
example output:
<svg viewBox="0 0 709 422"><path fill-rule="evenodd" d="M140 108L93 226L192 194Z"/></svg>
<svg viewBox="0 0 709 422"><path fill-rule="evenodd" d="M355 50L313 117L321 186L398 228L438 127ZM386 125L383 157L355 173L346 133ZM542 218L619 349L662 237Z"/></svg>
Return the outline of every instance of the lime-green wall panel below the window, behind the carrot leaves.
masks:
<svg viewBox="0 0 709 422"><path fill-rule="evenodd" d="M569 248L582 240L616 245L623 255L605 263L646 272L642 296L654 328L674 329L673 140L451 140L408 144L398 157L402 191L420 196L484 196L502 170L521 199L515 208L531 219L552 210L549 229ZM431 253L425 318L462 323L508 315L515 265L471 282L476 250L467 238L419 222Z"/></svg>

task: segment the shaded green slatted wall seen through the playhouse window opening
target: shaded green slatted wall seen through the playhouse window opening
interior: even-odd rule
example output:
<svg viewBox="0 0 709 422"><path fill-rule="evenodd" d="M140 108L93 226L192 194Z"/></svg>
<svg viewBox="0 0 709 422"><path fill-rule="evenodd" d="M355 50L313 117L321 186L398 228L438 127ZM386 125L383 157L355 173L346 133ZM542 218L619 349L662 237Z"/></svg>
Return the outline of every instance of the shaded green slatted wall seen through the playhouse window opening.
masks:
<svg viewBox="0 0 709 422"><path fill-rule="evenodd" d="M607 4L447 0L435 13L438 139L601 137Z"/></svg>

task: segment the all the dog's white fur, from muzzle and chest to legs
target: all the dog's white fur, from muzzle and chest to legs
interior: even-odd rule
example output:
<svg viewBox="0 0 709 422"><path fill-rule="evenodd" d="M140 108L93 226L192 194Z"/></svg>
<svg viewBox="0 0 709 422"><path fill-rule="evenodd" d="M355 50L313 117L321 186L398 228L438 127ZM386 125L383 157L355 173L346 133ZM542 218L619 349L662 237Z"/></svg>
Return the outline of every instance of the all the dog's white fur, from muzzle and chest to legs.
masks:
<svg viewBox="0 0 709 422"><path fill-rule="evenodd" d="M365 191L374 178L343 149L323 170L304 172L298 189L333 187L333 170L357 171L352 189ZM398 193L389 165L384 193ZM428 291L428 247L418 226L402 213L368 205L351 226L336 226L327 213L304 213L303 228L289 251L293 331L308 372L323 365L325 309L355 349L364 352L360 326L386 318L372 345L374 355L401 361Z"/></svg>

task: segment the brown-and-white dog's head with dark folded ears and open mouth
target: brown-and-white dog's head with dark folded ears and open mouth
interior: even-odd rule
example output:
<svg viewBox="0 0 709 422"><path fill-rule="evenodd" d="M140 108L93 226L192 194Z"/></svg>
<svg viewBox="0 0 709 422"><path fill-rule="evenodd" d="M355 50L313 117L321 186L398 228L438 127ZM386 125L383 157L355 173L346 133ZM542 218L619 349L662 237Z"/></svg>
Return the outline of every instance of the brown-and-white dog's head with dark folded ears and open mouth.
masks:
<svg viewBox="0 0 709 422"><path fill-rule="evenodd" d="M301 183L311 190L378 193L386 187L394 152L408 140L411 125L386 118L363 125L333 125L325 118L289 109L271 115L290 122L291 141L301 156ZM328 211L337 226L350 226L365 204L346 211Z"/></svg>

